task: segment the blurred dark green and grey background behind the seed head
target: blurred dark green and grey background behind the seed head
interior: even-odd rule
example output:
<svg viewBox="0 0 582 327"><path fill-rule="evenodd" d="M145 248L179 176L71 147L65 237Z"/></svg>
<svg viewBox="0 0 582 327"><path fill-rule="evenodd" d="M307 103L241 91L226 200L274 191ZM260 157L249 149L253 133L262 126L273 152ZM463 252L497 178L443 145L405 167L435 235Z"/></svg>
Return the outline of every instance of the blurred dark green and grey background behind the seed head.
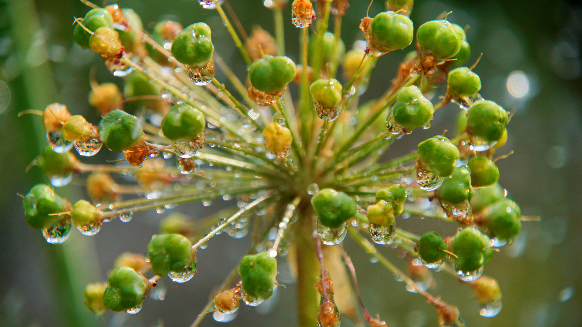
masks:
<svg viewBox="0 0 582 327"><path fill-rule="evenodd" d="M112 1L111 1L112 2ZM205 10L191 0L120 0L122 8L133 8L151 30L162 19L184 26L205 21L213 32L216 51L239 77L245 67L240 54L222 26L215 10ZM101 4L101 3L98 3ZM363 34L358 28L368 1L352 0L343 20L346 45ZM260 24L272 34L272 13L260 0L230 0L247 33ZM382 1L372 3L370 15L384 10ZM520 204L525 215L539 215L540 222L525 222L520 238L487 265L503 290L503 310L494 318L482 318L471 291L448 275L435 273L437 289L444 300L459 306L467 326L580 326L582 325L582 8L561 0L418 0L411 18L416 27L452 10L450 21L470 25L467 39L475 68L481 76L481 94L516 110L509 125L509 142L499 151L516 153L498 162L501 184ZM0 326L189 326L208 300L208 294L234 267L246 251L247 239L222 234L208 249L198 253L197 275L188 283L170 283L164 301L146 299L137 315L112 314L96 319L83 305L87 282L103 281L113 260L123 251L142 252L159 220L171 211L204 217L218 206L179 206L164 214L134 215L129 224L113 221L93 238L74 231L63 245L49 245L40 232L24 221L20 198L31 185L43 180L25 167L44 145L41 119L17 118L24 109L42 110L61 102L73 114L98 120L88 106L88 75L97 68L99 82L120 78L109 73L98 55L82 51L72 42L73 17L82 17L87 7L77 0L0 0ZM287 55L298 57L299 33L285 10ZM389 53L379 59L372 83L363 100L379 96L390 85L396 67L407 51ZM220 71L218 80L225 80ZM227 85L230 87L230 85ZM444 89L439 90L443 93ZM458 108L439 110L432 128L414 132L392 146L389 157L409 152L416 144L442 130L454 130ZM112 158L102 151L85 162ZM82 180L58 190L73 202L85 197ZM216 201L219 202L218 200ZM222 202L222 200L220 201ZM400 227L423 233L435 229L445 234L455 226L412 217L398 220ZM436 326L434 308L406 292L383 267L353 242L346 240L360 279L368 310L378 312L392 327ZM390 249L382 251L400 267ZM296 322L295 290L289 267L280 264L279 280L288 287L278 289L269 305L242 306L232 322L215 322L209 315L203 326L293 326ZM342 326L352 326L343 319Z"/></svg>

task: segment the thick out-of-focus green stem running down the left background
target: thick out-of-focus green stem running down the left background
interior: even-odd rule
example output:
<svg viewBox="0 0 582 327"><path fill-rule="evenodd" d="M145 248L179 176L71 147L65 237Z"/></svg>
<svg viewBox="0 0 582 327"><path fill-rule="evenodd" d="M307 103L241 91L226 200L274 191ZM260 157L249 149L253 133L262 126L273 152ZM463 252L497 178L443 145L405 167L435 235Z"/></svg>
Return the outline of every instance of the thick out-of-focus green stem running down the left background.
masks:
<svg viewBox="0 0 582 327"><path fill-rule="evenodd" d="M45 46L37 9L33 0L8 1L11 32L19 58L20 75L12 81L13 89L23 90L15 99L16 112L26 109L42 110L57 100L55 80ZM13 113L16 116L16 113ZM24 146L20 149L25 160L33 160L45 145L42 118L25 115L17 120ZM38 174L27 174L29 185L41 182ZM44 181L46 182L46 181ZM73 196L72 194L63 194ZM8 195L10 196L10 195ZM101 278L94 239L80 238L78 233L62 245L42 242L48 254L46 267L51 275L52 303L59 310L61 326L93 326L93 314L83 305L83 289L89 281ZM77 237L76 237L77 236ZM40 233L38 238L41 238ZM45 267L38 267L45 270Z"/></svg>

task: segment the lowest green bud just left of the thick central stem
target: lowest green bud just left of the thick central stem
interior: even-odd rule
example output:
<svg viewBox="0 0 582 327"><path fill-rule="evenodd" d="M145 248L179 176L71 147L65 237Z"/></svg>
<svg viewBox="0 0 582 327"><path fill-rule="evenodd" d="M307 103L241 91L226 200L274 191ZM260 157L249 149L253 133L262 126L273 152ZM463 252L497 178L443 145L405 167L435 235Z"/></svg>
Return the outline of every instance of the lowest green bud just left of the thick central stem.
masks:
<svg viewBox="0 0 582 327"><path fill-rule="evenodd" d="M242 291L254 299L267 300L273 294L277 276L277 260L265 252L244 256L240 260L239 275Z"/></svg>

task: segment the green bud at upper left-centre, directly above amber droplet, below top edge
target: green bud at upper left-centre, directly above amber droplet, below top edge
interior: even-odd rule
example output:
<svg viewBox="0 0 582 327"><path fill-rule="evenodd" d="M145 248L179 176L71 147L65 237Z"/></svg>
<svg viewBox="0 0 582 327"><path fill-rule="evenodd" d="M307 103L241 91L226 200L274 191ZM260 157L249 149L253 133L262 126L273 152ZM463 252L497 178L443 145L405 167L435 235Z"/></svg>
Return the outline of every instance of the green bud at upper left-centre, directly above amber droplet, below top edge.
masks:
<svg viewBox="0 0 582 327"><path fill-rule="evenodd" d="M212 58L214 45L210 26L196 23L187 26L172 41L172 55L189 66L204 66Z"/></svg>

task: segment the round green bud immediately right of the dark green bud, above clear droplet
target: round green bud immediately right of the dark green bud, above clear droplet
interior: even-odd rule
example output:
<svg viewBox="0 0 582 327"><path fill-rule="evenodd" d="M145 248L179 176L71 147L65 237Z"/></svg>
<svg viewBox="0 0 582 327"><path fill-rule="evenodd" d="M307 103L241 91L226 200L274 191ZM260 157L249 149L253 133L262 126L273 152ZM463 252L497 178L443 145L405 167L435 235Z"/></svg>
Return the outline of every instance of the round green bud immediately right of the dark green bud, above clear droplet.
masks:
<svg viewBox="0 0 582 327"><path fill-rule="evenodd" d="M206 125L204 115L183 103L170 109L162 120L162 132L172 141L190 141L198 137Z"/></svg>

